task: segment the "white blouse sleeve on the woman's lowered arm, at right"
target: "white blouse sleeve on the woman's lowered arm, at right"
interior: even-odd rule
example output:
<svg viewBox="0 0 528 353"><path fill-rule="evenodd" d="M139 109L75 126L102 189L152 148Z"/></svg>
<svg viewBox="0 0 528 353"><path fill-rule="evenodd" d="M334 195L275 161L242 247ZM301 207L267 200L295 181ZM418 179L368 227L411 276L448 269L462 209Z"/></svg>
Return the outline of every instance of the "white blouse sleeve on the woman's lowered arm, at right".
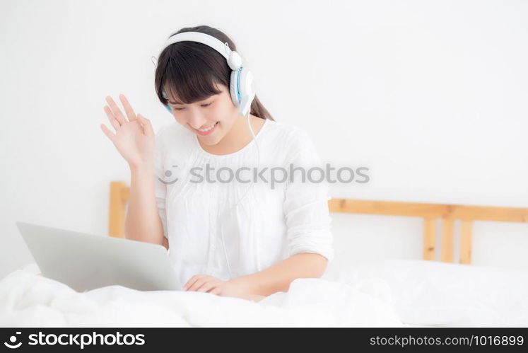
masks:
<svg viewBox="0 0 528 353"><path fill-rule="evenodd" d="M283 203L290 255L318 253L332 260L334 248L327 175L322 172L324 168L310 135L302 129L295 133L291 158L288 158L290 162L286 166L288 182ZM304 182L301 170L292 174L293 168L303 168Z"/></svg>

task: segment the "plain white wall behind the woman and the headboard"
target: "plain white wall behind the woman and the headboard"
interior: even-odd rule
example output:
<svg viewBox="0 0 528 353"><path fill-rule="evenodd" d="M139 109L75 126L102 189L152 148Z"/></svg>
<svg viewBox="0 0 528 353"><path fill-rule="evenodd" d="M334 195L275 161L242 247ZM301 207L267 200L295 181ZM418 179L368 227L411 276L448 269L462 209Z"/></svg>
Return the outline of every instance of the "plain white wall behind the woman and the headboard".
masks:
<svg viewBox="0 0 528 353"><path fill-rule="evenodd" d="M124 93L171 121L150 57L173 31L233 37L276 120L324 161L367 166L334 197L528 207L527 1L0 2L0 277L32 262L15 221L105 235L126 162L102 134ZM421 221L334 215L336 259L420 258ZM474 264L528 269L528 224L478 222Z"/></svg>

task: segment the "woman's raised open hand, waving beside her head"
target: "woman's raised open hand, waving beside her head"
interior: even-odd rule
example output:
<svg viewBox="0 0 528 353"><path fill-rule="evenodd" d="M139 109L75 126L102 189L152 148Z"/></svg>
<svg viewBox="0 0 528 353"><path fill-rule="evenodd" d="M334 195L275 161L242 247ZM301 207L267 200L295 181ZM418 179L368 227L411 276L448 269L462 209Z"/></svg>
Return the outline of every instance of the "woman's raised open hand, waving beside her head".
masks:
<svg viewBox="0 0 528 353"><path fill-rule="evenodd" d="M115 134L101 124L102 132L112 141L119 154L129 163L131 168L153 163L154 133L150 120L134 112L129 101L124 95L119 95L127 117L123 115L112 97L107 96L105 112L110 124L115 129Z"/></svg>

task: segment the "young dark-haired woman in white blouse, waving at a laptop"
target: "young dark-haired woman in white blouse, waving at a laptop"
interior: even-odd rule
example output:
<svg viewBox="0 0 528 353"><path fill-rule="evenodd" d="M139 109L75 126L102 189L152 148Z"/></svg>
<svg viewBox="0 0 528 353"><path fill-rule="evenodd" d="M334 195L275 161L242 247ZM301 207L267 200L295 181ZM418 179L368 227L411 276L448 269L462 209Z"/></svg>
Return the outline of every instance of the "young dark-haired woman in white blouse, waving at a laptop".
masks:
<svg viewBox="0 0 528 353"><path fill-rule="evenodd" d="M236 50L215 28L183 32ZM255 300L324 273L334 257L328 187L314 180L322 168L305 130L276 122L256 96L248 119L240 115L230 73L208 45L170 44L155 84L175 121L154 134L120 95L126 117L107 97L116 132L101 129L131 171L126 238L164 245L184 290Z"/></svg>

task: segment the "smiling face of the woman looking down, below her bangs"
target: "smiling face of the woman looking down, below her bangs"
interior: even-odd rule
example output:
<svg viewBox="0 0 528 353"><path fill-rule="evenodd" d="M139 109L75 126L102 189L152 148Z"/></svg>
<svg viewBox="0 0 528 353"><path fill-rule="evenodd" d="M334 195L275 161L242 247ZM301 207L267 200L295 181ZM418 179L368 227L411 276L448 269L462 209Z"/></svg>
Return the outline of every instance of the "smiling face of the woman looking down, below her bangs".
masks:
<svg viewBox="0 0 528 353"><path fill-rule="evenodd" d="M176 121L196 134L202 144L209 146L223 139L238 116L238 108L233 104L228 88L223 85L216 85L216 88L222 92L191 104L175 104L176 100L168 96Z"/></svg>

